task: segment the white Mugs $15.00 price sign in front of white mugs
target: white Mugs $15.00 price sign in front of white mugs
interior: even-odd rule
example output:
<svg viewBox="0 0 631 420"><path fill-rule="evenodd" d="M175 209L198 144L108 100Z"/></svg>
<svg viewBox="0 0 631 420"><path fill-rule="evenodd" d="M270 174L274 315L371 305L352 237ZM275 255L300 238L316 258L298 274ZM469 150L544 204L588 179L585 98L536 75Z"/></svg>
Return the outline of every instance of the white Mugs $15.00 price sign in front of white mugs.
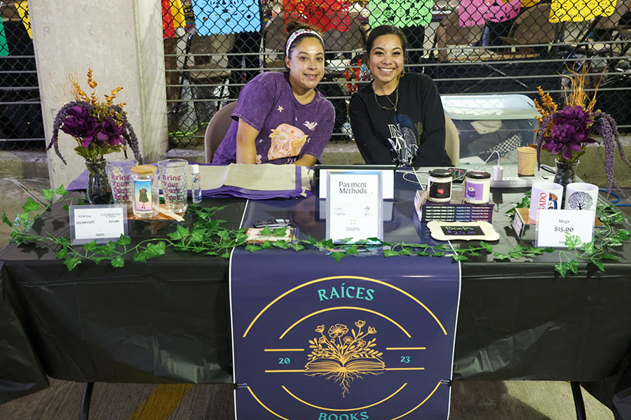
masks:
<svg viewBox="0 0 631 420"><path fill-rule="evenodd" d="M539 210L536 246L567 248L565 234L578 236L583 244L594 239L595 211Z"/></svg>

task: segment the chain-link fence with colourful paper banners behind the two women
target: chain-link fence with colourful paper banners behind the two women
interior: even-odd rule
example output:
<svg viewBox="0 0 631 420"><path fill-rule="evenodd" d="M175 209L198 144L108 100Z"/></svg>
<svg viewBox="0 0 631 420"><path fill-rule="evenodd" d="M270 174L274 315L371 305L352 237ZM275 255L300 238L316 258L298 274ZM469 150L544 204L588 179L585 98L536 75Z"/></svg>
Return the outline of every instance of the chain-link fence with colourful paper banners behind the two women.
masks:
<svg viewBox="0 0 631 420"><path fill-rule="evenodd" d="M537 87L564 104L562 73L588 66L585 91L620 132L631 131L631 0L163 0L170 144L201 146L216 109L259 71L284 69L285 25L320 28L327 74L319 89L337 112L332 141L352 139L348 98L366 83L370 27L401 27L406 71L441 94L519 93ZM177 12L183 17L178 21ZM167 31L169 34L167 34ZM602 80L601 80L602 77Z"/></svg>

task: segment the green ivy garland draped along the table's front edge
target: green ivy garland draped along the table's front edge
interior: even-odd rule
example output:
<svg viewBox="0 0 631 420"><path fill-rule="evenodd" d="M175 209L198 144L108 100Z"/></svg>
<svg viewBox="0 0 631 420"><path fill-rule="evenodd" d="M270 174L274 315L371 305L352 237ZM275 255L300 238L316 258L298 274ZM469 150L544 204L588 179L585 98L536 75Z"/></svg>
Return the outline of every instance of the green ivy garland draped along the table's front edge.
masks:
<svg viewBox="0 0 631 420"><path fill-rule="evenodd" d="M287 242L264 241L260 244L247 244L247 235L245 229L230 230L224 227L225 221L215 217L217 211L224 207L201 207L197 205L189 206L189 211L194 214L195 222L191 229L177 225L175 232L167 235L167 238L146 239L135 246L130 246L131 239L121 235L116 241L110 241L104 245L97 245L95 241L83 246L72 246L70 239L67 237L55 238L50 234L47 236L35 235L31 232L32 226L42 214L50 209L53 204L64 201L72 201L68 197L67 190L61 186L54 193L60 196L59 199L53 199L53 190L42 190L43 197L49 203L40 213L40 204L27 199L26 204L22 207L22 213L15 217L15 221L9 221L6 213L2 212L2 221L11 227L11 241L15 244L22 245L34 242L40 242L46 246L56 246L59 250L55 253L56 257L64 260L64 264L69 270L74 269L76 265L84 260L99 263L103 260L110 262L112 267L123 267L125 265L125 255L133 255L134 261L146 262L149 258L156 258L165 253L168 246L176 251L204 253L206 255L219 255L222 258L229 258L233 248L244 246L247 251L255 252L260 249L281 248L293 249L301 251L306 246L313 246L318 249L330 251L330 255L336 262L339 262L347 255L360 253L360 248L375 246L383 250L384 257L392 257L395 255L428 255L433 257L448 256L456 261L468 260L469 257L489 253L498 260L520 260L522 258L533 258L543 253L551 253L557 251L559 254L559 262L555 264L555 271L562 277L567 272L578 274L579 261L590 262L601 271L604 271L603 260L618 260L611 255L611 250L623 245L623 241L627 241L631 237L631 231L615 228L613 225L623 223L625 215L620 213L611 204L599 204L597 216L602 221L604 229L595 232L594 240L586 244L581 244L578 236L566 233L565 244L567 250L555 250L553 248L537 248L532 246L518 245L511 248L508 253L500 253L494 251L493 246L487 242L480 241L477 245L466 246L463 248L452 248L447 244L409 244L405 242L388 243L380 241L376 238L368 238L361 241L355 241L353 244L334 245L331 239L317 240L311 235L308 239L295 239ZM517 207L529 207L529 195L525 195L521 202L513 203L515 207L507 211L507 214L515 215ZM68 206L65 206L67 209ZM264 228L261 234L266 236L282 237L285 235L286 228L269 229Z"/></svg>

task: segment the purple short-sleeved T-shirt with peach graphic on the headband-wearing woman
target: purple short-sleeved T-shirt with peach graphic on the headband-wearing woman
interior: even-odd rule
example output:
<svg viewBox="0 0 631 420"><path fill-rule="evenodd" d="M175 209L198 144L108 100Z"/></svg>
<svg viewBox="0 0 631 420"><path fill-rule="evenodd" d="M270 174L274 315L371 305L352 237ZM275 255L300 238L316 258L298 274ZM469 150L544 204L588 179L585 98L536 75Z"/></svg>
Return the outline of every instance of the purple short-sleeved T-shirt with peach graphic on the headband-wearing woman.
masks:
<svg viewBox="0 0 631 420"><path fill-rule="evenodd" d="M301 104L292 92L287 73L261 73L248 82L232 113L233 122L219 145L212 163L236 162L239 119L259 130L257 163L293 163L301 155L320 160L331 137L335 110L320 92Z"/></svg>

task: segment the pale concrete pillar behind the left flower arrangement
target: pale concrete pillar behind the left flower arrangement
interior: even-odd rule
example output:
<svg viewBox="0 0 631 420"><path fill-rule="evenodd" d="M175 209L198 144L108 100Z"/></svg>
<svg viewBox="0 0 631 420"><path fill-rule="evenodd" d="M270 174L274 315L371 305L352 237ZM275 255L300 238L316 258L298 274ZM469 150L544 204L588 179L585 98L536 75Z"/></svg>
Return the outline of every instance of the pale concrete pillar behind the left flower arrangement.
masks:
<svg viewBox="0 0 631 420"><path fill-rule="evenodd" d="M156 162L168 147L161 1L29 0L29 12L46 143L60 106L72 100L69 73L76 71L81 87L90 94L90 68L100 99L123 86L114 103L126 103L144 162ZM72 137L60 132L59 144L68 165L52 148L48 151L55 188L67 186L86 169L73 150ZM108 155L114 157L118 155Z"/></svg>

